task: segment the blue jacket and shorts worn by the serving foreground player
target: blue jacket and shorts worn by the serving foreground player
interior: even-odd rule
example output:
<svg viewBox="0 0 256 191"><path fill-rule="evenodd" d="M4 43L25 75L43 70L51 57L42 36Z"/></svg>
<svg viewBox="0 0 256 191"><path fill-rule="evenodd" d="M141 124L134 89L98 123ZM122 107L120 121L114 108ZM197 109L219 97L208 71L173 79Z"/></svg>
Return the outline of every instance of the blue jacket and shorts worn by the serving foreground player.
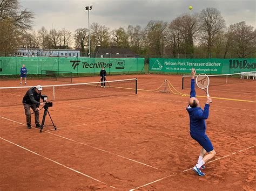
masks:
<svg viewBox="0 0 256 191"><path fill-rule="evenodd" d="M191 79L190 97L196 97L196 90L194 89L194 79ZM206 135L205 119L209 116L209 104L205 104L204 110L200 107L191 108L188 105L187 112L190 116L190 135L196 140L207 152L213 150L212 143Z"/></svg>

